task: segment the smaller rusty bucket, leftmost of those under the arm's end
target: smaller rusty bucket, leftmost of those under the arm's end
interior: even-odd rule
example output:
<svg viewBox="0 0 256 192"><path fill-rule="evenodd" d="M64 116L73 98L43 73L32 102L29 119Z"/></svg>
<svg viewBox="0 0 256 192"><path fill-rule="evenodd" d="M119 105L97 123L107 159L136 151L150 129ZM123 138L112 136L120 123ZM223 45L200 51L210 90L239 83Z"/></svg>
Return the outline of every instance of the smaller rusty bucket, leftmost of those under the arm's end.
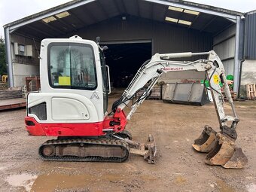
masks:
<svg viewBox="0 0 256 192"><path fill-rule="evenodd" d="M215 147L218 139L216 138L217 132L210 126L205 126L205 129L201 133L200 137L194 141L193 148L200 152L208 153Z"/></svg>

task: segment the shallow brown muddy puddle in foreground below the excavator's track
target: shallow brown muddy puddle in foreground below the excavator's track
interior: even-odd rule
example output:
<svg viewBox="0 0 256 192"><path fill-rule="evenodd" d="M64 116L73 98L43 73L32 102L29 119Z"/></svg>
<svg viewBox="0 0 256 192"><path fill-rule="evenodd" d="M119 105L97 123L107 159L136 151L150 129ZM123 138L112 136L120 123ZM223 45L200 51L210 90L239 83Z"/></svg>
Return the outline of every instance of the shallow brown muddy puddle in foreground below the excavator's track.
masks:
<svg viewBox="0 0 256 192"><path fill-rule="evenodd" d="M157 179L151 175L140 175L138 181L154 181ZM13 187L20 187L23 190L31 192L50 192L55 190L67 190L72 188L87 190L102 190L96 183L110 182L125 184L130 183L132 178L129 175L66 175L59 173L48 173L43 175L30 175L23 173L20 175L10 175L6 178Z"/></svg>

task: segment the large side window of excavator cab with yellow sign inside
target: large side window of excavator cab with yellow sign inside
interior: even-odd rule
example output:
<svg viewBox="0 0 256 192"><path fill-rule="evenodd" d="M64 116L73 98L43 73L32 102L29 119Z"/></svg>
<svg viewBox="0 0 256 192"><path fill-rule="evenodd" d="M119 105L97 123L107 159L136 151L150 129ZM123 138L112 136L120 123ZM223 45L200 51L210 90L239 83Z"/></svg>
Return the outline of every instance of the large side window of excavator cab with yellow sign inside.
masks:
<svg viewBox="0 0 256 192"><path fill-rule="evenodd" d="M90 44L52 43L48 49L50 87L96 89L95 57Z"/></svg>

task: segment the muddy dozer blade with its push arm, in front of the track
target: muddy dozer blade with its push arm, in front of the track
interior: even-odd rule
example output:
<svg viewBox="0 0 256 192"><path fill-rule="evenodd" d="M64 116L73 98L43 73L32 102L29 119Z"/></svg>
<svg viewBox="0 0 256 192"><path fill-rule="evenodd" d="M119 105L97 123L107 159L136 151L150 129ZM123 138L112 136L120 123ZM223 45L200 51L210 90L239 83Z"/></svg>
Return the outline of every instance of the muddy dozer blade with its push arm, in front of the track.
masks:
<svg viewBox="0 0 256 192"><path fill-rule="evenodd" d="M130 139L124 139L130 147L130 153L139 154L144 157L145 160L148 160L148 163L154 164L155 157L157 154L157 145L154 142L154 137L152 135L148 136L147 142L141 144L139 142L131 141Z"/></svg>

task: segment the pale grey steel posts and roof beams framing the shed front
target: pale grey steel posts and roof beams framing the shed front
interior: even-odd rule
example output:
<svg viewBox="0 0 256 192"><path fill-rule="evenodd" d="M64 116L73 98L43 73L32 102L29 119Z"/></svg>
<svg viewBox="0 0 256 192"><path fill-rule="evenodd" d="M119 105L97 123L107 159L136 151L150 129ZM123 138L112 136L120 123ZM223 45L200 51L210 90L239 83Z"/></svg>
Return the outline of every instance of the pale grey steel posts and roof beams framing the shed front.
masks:
<svg viewBox="0 0 256 192"><path fill-rule="evenodd" d="M50 17L54 14L59 14L63 11L69 11L72 8L78 8L79 6L89 4L90 2L96 2L97 0L77 0L75 2L69 2L64 5L59 5L56 8L42 11L33 16L25 17L21 20L17 20L13 23L8 23L5 28L6 50L7 50L7 62L8 62L8 79L9 87L14 87L14 74L13 74L13 62L11 58L11 33L15 32L21 26L26 26L29 23L33 23L38 20L42 20L46 17ZM212 14L218 17L224 17L227 20L236 23L236 53L235 53L235 67L234 75L239 77L239 27L240 27L240 13L236 11L228 11L221 8L214 8L208 5L200 5L192 2L175 2L173 0L143 0L145 2L156 3L160 5L174 6L178 8L189 9L193 11L199 11L200 13ZM239 78L235 78L234 90L237 91L239 87Z"/></svg>

